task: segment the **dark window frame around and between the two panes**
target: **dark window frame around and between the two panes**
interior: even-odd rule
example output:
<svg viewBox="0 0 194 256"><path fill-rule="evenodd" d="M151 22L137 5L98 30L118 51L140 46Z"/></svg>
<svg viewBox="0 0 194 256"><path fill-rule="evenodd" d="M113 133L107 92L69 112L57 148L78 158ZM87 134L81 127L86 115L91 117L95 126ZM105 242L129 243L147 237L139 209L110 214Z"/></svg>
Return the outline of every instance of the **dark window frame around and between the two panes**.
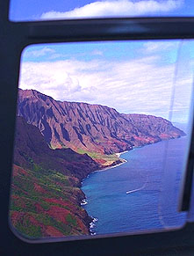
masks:
<svg viewBox="0 0 194 256"><path fill-rule="evenodd" d="M160 255L160 253L169 253L174 255L172 253L179 252L183 255L183 252L193 253L194 223L187 223L182 230L50 244L29 244L12 233L8 212L18 75L23 49L31 44L52 42L193 39L194 18L102 18L15 23L8 19L9 4L9 0L3 0L0 4L0 81L2 86L0 93L0 254L138 255L143 253L143 255ZM193 159L193 152L190 156Z"/></svg>

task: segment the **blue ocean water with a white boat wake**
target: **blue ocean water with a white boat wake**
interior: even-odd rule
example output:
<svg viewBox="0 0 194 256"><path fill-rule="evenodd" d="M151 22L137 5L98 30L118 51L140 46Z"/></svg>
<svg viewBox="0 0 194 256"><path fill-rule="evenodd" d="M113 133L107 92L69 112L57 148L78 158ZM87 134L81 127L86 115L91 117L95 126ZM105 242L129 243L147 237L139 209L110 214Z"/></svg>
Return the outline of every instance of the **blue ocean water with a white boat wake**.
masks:
<svg viewBox="0 0 194 256"><path fill-rule="evenodd" d="M126 163L83 180L96 234L181 227L177 212L187 138L164 141L122 154ZM133 191L134 190L134 191ZM129 192L126 194L126 192Z"/></svg>

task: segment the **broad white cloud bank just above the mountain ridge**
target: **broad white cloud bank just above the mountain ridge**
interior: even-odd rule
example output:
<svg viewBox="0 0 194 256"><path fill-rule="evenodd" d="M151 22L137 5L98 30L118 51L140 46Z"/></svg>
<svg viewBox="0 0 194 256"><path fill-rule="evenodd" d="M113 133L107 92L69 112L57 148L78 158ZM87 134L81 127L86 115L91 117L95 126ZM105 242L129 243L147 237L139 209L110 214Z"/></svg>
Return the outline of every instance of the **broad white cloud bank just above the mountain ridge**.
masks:
<svg viewBox="0 0 194 256"><path fill-rule="evenodd" d="M111 106L120 113L150 113L168 118L175 65L159 63L159 56L122 62L23 62L19 87L35 89L58 100ZM187 69L183 67L178 74L173 95L179 113L186 113L190 104L192 73Z"/></svg>

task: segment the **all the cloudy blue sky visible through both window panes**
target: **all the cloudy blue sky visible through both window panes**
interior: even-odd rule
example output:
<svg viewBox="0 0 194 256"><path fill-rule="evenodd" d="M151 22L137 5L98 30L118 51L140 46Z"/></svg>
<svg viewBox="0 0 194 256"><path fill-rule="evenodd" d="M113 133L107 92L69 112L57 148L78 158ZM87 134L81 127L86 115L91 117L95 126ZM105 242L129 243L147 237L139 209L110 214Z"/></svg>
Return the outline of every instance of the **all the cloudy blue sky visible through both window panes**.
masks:
<svg viewBox="0 0 194 256"><path fill-rule="evenodd" d="M193 7L193 8L192 8ZM192 15L194 1L12 0L14 21L110 16ZM57 100L110 106L186 122L190 113L192 40L59 43L25 48L19 87Z"/></svg>

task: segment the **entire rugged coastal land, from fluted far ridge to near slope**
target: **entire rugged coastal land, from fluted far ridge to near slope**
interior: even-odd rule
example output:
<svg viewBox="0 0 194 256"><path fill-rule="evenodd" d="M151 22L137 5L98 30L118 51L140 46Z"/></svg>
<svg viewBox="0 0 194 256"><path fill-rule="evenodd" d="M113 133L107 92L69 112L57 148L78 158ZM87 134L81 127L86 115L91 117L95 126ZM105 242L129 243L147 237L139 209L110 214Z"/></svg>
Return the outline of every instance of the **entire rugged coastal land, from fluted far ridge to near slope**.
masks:
<svg viewBox="0 0 194 256"><path fill-rule="evenodd" d="M18 91L11 224L25 238L89 235L82 180L116 153L185 135L161 117Z"/></svg>

